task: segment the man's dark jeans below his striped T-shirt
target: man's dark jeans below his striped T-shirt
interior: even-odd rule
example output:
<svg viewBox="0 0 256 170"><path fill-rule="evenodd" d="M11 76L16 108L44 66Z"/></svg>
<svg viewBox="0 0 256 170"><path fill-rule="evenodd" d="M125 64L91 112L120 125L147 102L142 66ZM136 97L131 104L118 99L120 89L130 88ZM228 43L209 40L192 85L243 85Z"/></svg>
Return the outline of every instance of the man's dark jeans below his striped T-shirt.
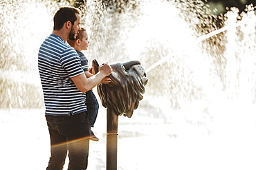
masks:
<svg viewBox="0 0 256 170"><path fill-rule="evenodd" d="M62 170L68 151L68 170L84 170L88 164L90 123L87 111L73 116L48 116L51 157L46 170Z"/></svg>

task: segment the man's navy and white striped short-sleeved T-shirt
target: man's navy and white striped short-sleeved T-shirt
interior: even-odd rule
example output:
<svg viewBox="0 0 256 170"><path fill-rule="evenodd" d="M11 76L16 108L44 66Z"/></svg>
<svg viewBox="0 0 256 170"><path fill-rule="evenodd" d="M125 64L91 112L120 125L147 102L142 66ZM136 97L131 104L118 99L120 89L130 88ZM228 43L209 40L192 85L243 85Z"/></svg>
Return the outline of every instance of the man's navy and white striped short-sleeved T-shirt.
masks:
<svg viewBox="0 0 256 170"><path fill-rule="evenodd" d="M38 69L44 92L46 115L68 116L86 111L86 95L71 77L84 74L73 47L51 34L39 48Z"/></svg>

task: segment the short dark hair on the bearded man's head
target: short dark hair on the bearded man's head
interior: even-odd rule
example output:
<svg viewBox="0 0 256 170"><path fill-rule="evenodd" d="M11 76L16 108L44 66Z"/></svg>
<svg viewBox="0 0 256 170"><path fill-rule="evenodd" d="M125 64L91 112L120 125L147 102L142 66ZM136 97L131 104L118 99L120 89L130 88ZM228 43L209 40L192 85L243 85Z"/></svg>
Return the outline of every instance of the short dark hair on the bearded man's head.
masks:
<svg viewBox="0 0 256 170"><path fill-rule="evenodd" d="M71 6L60 7L53 17L53 21L54 21L53 30L60 30L63 27L64 23L66 23L66 21L71 21L71 23L74 24L75 21L77 20L77 17L75 16L75 14L80 14L80 13L81 12L78 8L74 8Z"/></svg>

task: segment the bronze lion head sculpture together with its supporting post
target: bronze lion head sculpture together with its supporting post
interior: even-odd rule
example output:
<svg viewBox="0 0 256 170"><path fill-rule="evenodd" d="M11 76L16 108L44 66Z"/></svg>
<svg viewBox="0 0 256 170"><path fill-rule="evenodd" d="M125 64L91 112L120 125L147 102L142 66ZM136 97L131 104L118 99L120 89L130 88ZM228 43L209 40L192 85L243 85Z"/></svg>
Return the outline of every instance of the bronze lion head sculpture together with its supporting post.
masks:
<svg viewBox="0 0 256 170"><path fill-rule="evenodd" d="M98 72L98 62L93 60L93 74ZM118 116L131 118L134 109L143 99L147 77L139 61L111 64L111 83L97 86L102 105L107 108L107 170L117 169Z"/></svg>

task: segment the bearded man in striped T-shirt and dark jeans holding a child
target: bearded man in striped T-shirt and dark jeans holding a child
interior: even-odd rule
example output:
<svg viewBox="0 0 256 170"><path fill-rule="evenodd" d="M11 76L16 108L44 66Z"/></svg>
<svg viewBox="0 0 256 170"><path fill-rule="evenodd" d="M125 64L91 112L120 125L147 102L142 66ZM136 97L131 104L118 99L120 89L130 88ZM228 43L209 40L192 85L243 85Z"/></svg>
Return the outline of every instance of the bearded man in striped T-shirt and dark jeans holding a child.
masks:
<svg viewBox="0 0 256 170"><path fill-rule="evenodd" d="M65 43L75 39L80 30L79 9L61 7L53 20L53 33L42 43L38 54L51 139L51 157L46 170L63 169L67 151L68 170L82 170L88 164L90 136L84 93L109 76L112 69L107 64L100 65L98 74L86 78L77 52Z"/></svg>

